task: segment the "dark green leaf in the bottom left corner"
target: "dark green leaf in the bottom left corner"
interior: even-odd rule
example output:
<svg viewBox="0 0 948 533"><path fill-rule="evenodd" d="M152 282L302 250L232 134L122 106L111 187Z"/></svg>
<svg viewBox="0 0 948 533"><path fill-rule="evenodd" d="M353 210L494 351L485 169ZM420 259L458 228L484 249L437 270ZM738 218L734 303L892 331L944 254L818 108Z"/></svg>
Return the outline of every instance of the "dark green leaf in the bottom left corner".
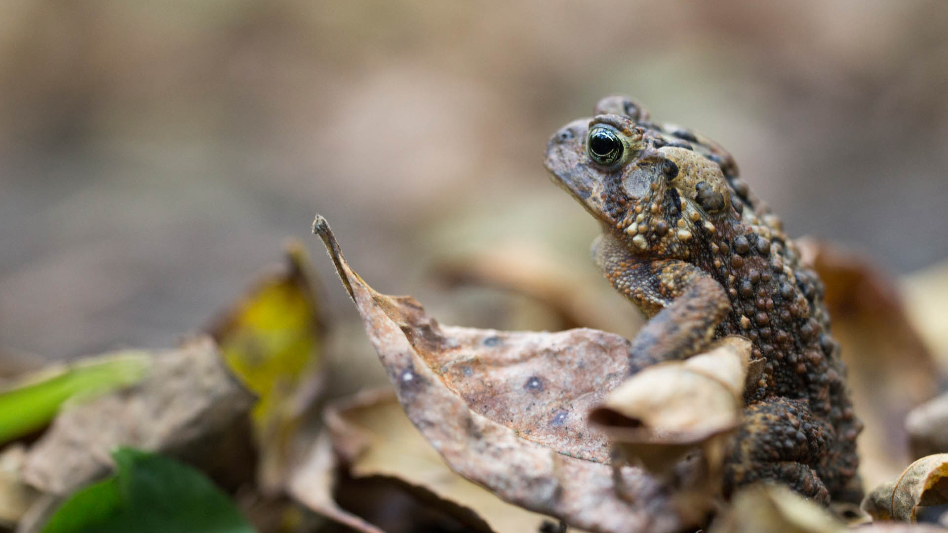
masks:
<svg viewBox="0 0 948 533"><path fill-rule="evenodd" d="M119 448L118 472L76 491L43 533L254 533L228 497L196 469Z"/></svg>

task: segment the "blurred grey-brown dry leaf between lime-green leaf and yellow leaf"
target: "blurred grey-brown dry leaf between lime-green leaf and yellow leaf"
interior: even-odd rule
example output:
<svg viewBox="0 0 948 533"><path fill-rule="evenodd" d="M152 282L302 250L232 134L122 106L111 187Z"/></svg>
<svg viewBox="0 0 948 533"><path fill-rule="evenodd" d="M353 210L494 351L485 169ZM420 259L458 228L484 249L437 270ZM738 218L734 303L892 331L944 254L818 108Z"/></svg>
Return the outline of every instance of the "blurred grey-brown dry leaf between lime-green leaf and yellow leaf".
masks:
<svg viewBox="0 0 948 533"><path fill-rule="evenodd" d="M232 377L212 340L156 354L130 389L73 405L30 448L24 481L64 495L112 468L119 445L159 450L208 471L225 487L252 472L249 418L254 396Z"/></svg>

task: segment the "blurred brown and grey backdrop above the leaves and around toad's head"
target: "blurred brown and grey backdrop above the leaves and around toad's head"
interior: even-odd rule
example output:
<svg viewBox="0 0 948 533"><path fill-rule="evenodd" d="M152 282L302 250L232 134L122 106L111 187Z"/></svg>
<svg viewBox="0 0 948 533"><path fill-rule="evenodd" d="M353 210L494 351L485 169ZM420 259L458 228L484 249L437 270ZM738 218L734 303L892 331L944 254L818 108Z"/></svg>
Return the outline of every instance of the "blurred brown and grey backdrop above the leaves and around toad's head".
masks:
<svg viewBox="0 0 948 533"><path fill-rule="evenodd" d="M9 0L0 346L171 346L288 237L353 322L317 212L376 289L443 322L542 327L433 272L513 249L613 297L592 218L542 166L547 138L611 93L718 140L792 235L893 274L948 254L936 0Z"/></svg>

